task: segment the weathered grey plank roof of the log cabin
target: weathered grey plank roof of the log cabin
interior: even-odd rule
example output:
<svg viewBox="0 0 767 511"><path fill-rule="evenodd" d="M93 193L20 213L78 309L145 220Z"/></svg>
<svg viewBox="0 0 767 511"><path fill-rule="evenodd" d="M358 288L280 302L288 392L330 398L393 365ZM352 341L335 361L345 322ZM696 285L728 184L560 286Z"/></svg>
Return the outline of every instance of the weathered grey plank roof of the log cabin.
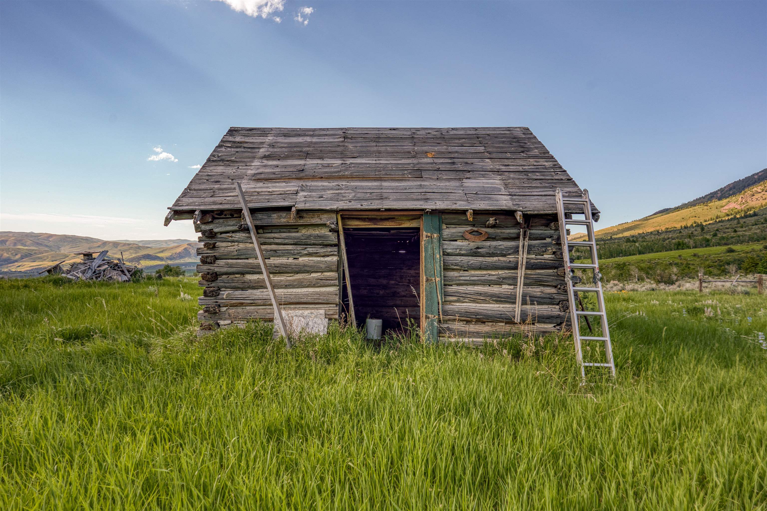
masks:
<svg viewBox="0 0 767 511"><path fill-rule="evenodd" d="M232 127L170 209L513 209L581 189L526 127ZM596 213L597 210L594 209Z"/></svg>

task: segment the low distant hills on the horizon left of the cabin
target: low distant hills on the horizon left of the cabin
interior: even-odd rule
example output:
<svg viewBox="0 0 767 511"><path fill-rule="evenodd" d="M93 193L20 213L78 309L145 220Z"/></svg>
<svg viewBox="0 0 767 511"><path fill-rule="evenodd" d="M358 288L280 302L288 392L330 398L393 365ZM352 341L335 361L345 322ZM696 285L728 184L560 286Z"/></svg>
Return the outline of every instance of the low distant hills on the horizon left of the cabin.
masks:
<svg viewBox="0 0 767 511"><path fill-rule="evenodd" d="M199 243L186 239L151 240L144 242L105 241L104 239L48 234L46 232L0 231L0 272L40 272L56 262L74 262L81 259L74 252L109 250L126 262L141 267L173 264L189 265L196 261ZM180 242L180 243L175 243Z"/></svg>

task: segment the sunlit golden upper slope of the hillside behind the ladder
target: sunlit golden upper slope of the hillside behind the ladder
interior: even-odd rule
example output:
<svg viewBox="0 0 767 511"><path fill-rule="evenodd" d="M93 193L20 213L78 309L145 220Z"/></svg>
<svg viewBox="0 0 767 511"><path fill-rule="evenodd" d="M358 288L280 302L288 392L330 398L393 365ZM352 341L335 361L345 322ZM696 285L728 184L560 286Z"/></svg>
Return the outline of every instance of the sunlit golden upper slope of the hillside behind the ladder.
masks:
<svg viewBox="0 0 767 511"><path fill-rule="evenodd" d="M757 209L767 207L767 180L762 180L752 186L742 189L744 183L750 183L759 176L767 176L767 170L752 174L742 180L723 186L719 190L690 201L692 206L677 206L663 213L653 213L633 222L621 223L617 226L605 227L595 232L597 239L614 236L633 236L643 232L660 232L667 229L680 229L693 224L707 224L720 219L742 216ZM732 195L727 190L739 190ZM714 197L700 202L706 197ZM583 235L574 235L572 239L581 239Z"/></svg>

